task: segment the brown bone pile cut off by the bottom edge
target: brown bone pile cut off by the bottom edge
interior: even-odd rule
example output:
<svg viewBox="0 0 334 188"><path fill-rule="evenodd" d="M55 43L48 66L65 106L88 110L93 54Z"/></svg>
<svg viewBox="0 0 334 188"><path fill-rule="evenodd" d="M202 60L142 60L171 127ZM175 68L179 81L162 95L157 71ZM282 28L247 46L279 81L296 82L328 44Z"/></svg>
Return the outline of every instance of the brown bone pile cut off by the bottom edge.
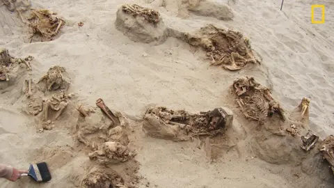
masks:
<svg viewBox="0 0 334 188"><path fill-rule="evenodd" d="M127 188L120 175L111 170L93 168L88 172L81 186L86 188Z"/></svg>

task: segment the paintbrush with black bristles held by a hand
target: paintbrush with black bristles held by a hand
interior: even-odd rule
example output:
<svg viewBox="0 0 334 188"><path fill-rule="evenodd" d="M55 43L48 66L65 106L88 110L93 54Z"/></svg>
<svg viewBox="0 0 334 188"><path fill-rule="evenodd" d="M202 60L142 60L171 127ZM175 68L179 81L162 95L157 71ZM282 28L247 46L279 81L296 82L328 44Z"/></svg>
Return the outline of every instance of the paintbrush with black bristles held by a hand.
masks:
<svg viewBox="0 0 334 188"><path fill-rule="evenodd" d="M46 162L30 164L28 173L22 173L21 175L29 175L36 182L48 182L51 180L51 173Z"/></svg>

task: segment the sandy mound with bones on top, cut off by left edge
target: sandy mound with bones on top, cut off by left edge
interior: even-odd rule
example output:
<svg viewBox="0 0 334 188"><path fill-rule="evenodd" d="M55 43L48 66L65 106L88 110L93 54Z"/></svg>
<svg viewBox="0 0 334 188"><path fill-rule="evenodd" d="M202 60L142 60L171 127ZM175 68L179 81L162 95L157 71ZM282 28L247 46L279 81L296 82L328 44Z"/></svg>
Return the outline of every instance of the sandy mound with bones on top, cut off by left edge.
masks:
<svg viewBox="0 0 334 188"><path fill-rule="evenodd" d="M7 49L0 48L0 89L15 84L18 77L22 77L26 70L31 70L31 60L33 60L32 56L24 59L14 58L10 56ZM22 68L21 64L24 64L26 69Z"/></svg>

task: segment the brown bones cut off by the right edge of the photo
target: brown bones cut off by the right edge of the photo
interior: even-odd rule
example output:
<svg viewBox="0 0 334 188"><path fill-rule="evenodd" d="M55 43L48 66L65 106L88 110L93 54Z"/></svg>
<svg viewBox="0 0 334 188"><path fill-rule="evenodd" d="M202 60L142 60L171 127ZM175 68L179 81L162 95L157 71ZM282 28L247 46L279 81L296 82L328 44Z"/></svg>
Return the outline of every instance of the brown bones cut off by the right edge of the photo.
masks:
<svg viewBox="0 0 334 188"><path fill-rule="evenodd" d="M324 155L324 159L331 164L331 169L334 173L334 136L327 136L327 138L320 144L319 149Z"/></svg>

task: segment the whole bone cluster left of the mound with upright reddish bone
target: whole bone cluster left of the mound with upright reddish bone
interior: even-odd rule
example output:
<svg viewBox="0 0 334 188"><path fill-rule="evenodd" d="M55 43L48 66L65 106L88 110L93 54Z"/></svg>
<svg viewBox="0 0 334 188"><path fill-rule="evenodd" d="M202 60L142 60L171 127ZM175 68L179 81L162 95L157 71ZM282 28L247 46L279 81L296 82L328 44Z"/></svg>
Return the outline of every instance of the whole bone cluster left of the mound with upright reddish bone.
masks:
<svg viewBox="0 0 334 188"><path fill-rule="evenodd" d="M56 65L51 67L38 83L31 78L24 79L22 93L28 98L28 104L23 110L42 120L42 127L38 126L39 131L51 130L54 120L61 116L70 99L74 97L74 93L66 93L70 84L64 78L64 72L64 68ZM45 93L46 91L53 92ZM40 121L37 123L39 125Z"/></svg>

